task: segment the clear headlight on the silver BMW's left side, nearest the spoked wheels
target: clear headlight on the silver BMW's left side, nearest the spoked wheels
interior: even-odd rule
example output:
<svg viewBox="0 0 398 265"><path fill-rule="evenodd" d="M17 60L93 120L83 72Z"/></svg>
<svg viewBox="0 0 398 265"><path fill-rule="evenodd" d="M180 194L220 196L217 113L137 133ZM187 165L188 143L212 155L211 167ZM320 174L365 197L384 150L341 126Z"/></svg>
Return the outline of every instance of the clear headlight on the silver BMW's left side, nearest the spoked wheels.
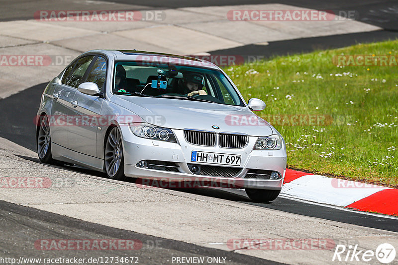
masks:
<svg viewBox="0 0 398 265"><path fill-rule="evenodd" d="M173 132L167 128L161 128L145 123L130 123L131 131L138 137L162 140L168 142L177 142Z"/></svg>

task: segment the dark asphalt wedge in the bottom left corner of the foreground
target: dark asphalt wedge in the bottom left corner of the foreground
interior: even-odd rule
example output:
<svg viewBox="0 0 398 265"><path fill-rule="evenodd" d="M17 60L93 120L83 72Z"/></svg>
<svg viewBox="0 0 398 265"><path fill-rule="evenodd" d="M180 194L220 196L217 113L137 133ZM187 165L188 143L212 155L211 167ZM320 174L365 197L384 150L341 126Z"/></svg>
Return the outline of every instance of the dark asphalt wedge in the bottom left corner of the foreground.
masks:
<svg viewBox="0 0 398 265"><path fill-rule="evenodd" d="M29 258L53 257L51 251L42 252L38 255L36 249L31 249L30 246L34 245L37 238L117 238L125 240L133 238L142 242L141 249L116 251L112 252L112 256L139 257L139 263L153 265L170 263L172 257L175 256L225 257L228 264L280 264L233 252L203 248L181 241L110 228L4 201L0 201L0 219L2 222L2 231L0 232L3 239L0 248L3 253L7 253L8 257L16 260L21 257L21 254ZM86 259L89 257L97 258L103 256L103 252L79 250L74 251L73 256ZM57 255L58 257L69 259L71 254L63 252Z"/></svg>

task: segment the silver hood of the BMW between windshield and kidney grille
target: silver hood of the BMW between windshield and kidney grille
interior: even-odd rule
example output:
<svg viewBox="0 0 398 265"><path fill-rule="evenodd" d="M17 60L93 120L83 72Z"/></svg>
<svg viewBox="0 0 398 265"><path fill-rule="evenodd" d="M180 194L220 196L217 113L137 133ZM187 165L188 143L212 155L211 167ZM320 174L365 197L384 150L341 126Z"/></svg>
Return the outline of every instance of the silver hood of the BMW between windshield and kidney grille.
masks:
<svg viewBox="0 0 398 265"><path fill-rule="evenodd" d="M113 95L110 101L159 127L245 133L251 136L273 134L271 126L246 107L123 95ZM214 129L212 126L219 129Z"/></svg>

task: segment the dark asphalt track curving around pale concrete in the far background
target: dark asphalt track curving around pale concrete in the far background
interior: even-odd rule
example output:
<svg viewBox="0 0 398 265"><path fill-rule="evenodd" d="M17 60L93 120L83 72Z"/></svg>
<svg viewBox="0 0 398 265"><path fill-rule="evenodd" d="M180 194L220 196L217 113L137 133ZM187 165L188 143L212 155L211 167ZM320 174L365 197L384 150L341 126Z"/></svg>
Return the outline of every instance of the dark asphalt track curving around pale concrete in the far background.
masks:
<svg viewBox="0 0 398 265"><path fill-rule="evenodd" d="M275 3L272 0L220 0L220 1L159 1L159 0L115 0L115 3L128 4L128 10L160 9L160 8L184 8L199 6L222 6L239 4L264 4ZM51 4L50 4L51 3ZM357 43L369 43L395 39L398 36L398 3L394 0L282 0L281 4L295 5L305 8L319 10L355 10L355 19L364 23L379 26L384 30L371 31L365 33L332 35L326 37L300 38L286 41L269 42L269 45L245 45L232 49L216 50L209 52L212 55L241 55L246 59L247 55L260 56L260 58L270 58L276 55L288 55L294 53L305 53L314 50L341 48ZM67 0L52 3L48 0L29 1L23 0L14 2L3 0L0 9L0 21L32 19L32 10L85 10L90 9L91 3L85 0L74 1L72 4ZM24 8L20 8L20 6ZM51 5L51 8L49 6ZM97 3L98 9L112 9L106 3ZM124 8L121 8L124 9Z"/></svg>

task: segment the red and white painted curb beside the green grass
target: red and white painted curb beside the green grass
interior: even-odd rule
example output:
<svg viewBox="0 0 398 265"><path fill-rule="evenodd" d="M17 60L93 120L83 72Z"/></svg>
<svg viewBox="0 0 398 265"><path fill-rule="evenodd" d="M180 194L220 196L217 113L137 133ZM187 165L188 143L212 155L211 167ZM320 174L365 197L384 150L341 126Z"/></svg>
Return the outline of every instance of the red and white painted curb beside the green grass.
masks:
<svg viewBox="0 0 398 265"><path fill-rule="evenodd" d="M398 189L287 169L281 195L398 216Z"/></svg>

